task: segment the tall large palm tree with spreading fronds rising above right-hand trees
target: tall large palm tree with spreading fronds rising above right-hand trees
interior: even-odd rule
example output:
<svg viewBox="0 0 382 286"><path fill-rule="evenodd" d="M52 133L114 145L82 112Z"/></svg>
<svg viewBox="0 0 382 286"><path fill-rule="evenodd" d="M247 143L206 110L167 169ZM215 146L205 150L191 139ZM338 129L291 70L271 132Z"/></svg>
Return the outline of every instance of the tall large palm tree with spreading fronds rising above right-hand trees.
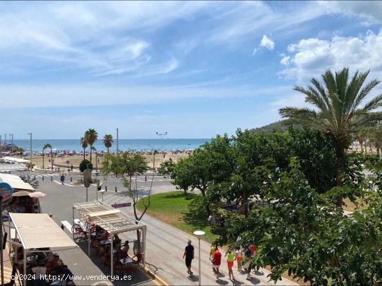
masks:
<svg viewBox="0 0 382 286"><path fill-rule="evenodd" d="M295 86L294 90L304 93L305 101L315 109L284 107L279 109L283 118L290 118L292 122L303 123L319 127L326 133L335 136L335 156L337 160L336 185L343 185L344 159L347 148L351 143L351 134L357 133L369 124L373 118L381 116L372 112L382 106L382 94L369 100L363 107L361 102L369 92L379 84L379 80L372 80L364 84L369 71L356 73L349 79L349 68L333 72L326 70L322 74L324 86L317 79L312 78L306 88ZM338 204L342 204L338 202Z"/></svg>

